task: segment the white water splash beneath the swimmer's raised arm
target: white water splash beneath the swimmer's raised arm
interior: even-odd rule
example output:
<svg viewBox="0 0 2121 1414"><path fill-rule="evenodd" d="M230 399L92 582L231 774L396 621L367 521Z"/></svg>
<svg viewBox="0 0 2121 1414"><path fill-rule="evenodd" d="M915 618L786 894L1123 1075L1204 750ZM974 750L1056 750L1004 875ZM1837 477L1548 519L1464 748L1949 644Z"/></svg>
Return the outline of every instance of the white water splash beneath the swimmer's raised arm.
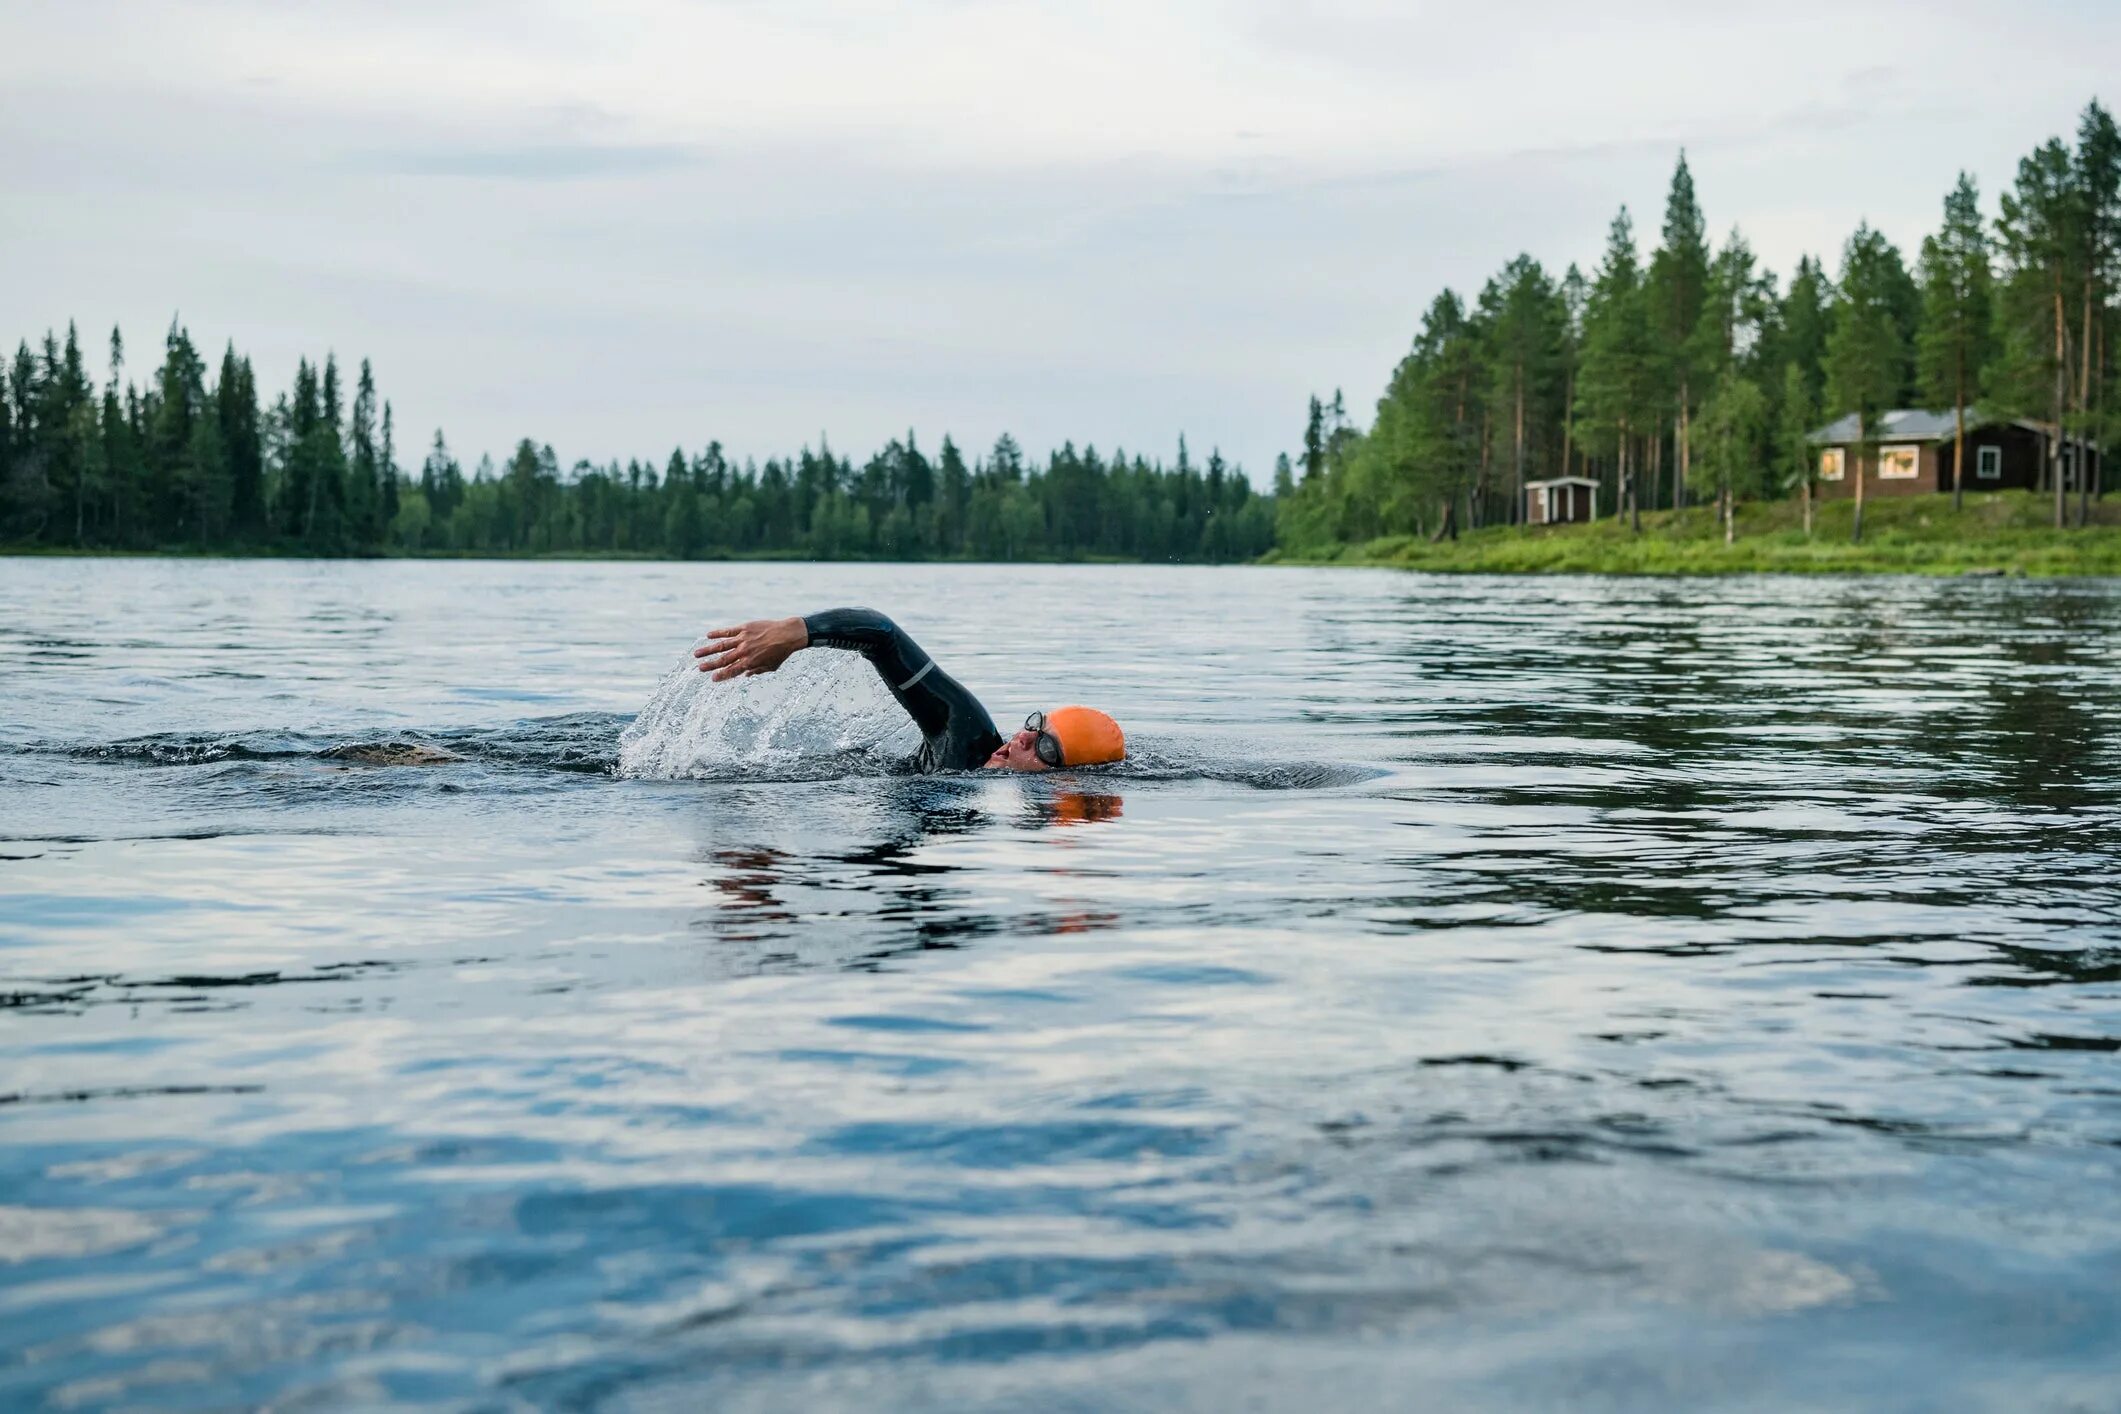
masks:
<svg viewBox="0 0 2121 1414"><path fill-rule="evenodd" d="M730 683L687 657L619 736L619 776L804 776L851 757L910 755L916 740L904 708L853 653L802 653L778 672Z"/></svg>

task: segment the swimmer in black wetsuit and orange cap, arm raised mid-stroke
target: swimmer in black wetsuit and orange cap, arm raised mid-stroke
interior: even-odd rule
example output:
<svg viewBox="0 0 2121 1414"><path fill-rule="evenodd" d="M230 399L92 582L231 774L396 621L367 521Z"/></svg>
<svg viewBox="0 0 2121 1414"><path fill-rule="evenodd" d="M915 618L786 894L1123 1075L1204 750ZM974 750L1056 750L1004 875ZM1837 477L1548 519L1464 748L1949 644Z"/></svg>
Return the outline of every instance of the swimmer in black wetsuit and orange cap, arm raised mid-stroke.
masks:
<svg viewBox="0 0 2121 1414"><path fill-rule="evenodd" d="M802 649L846 649L870 659L876 676L921 727L916 763L923 772L1050 772L1126 757L1120 723L1084 706L1033 712L1022 731L1003 740L980 700L937 668L906 630L874 608L827 608L800 619L753 619L717 628L691 655L700 659L700 672L713 672L721 683L772 672Z"/></svg>

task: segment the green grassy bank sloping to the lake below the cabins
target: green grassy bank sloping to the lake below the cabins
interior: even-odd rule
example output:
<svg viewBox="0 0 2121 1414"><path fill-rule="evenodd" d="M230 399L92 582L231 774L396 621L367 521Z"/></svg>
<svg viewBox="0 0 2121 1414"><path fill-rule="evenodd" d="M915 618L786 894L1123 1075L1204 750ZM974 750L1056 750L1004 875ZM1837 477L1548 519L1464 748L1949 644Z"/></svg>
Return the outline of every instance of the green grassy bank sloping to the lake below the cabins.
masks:
<svg viewBox="0 0 2121 1414"><path fill-rule="evenodd" d="M2074 500L2070 505L2074 511ZM1281 564L1379 564L1468 575L2121 575L2121 498L2091 505L2083 530L2053 528L2053 500L2032 492L1896 496L1864 505L1862 545L1847 500L1813 507L1807 536L1794 500L1741 505L1724 545L1712 507L1652 511L1642 534L1625 522L1495 526L1432 545L1385 536L1332 553L1277 551Z"/></svg>

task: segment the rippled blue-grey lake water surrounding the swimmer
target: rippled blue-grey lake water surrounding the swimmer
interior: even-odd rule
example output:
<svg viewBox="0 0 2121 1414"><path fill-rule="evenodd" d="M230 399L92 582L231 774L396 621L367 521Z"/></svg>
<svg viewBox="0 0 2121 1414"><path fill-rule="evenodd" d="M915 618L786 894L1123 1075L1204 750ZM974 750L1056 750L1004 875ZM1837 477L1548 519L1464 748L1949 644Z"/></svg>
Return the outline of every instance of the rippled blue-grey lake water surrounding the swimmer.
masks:
<svg viewBox="0 0 2121 1414"><path fill-rule="evenodd" d="M844 602L1139 759L617 772ZM2117 742L2115 583L0 562L0 1406L2121 1408Z"/></svg>

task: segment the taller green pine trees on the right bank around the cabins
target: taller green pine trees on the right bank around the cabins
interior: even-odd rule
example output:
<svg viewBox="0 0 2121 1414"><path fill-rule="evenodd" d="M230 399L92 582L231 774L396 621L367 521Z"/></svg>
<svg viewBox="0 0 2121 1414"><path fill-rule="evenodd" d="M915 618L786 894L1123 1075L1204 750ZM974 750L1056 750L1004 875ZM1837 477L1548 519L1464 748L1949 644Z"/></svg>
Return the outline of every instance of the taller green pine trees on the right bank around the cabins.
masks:
<svg viewBox="0 0 2121 1414"><path fill-rule="evenodd" d="M1807 257L1788 286L1739 231L1710 246L1682 153L1648 261L1623 206L1591 276L1521 254L1472 303L1438 295L1368 430L1340 394L1313 399L1300 469L1279 475L1281 543L1517 522L1525 481L1555 475L1599 479L1606 511L1809 494L1805 432L1858 413L1869 441L1894 407L1981 403L2104 443L2117 288L2121 134L2098 102L2074 148L2019 163L1994 223L1960 176L1913 267L1860 225L1839 276Z"/></svg>

